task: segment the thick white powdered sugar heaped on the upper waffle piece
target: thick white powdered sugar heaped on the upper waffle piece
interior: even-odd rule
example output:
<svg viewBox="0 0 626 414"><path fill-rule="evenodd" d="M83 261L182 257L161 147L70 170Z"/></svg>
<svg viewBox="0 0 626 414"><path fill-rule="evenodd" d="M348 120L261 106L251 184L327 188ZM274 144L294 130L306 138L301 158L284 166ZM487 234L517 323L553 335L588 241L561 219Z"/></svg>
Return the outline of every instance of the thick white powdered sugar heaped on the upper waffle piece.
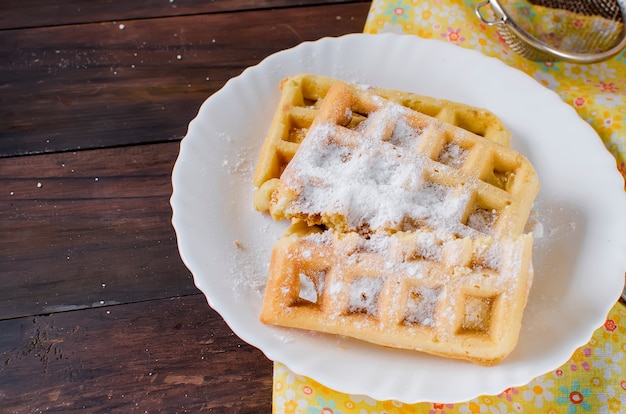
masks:
<svg viewBox="0 0 626 414"><path fill-rule="evenodd" d="M311 128L287 167L293 174L283 174L298 193L286 212L338 215L350 231L410 230L419 222L475 235L461 224L469 191L425 179L427 159L415 150L423 131L407 123L406 111L388 102L355 131L341 129L347 136L331 124Z"/></svg>

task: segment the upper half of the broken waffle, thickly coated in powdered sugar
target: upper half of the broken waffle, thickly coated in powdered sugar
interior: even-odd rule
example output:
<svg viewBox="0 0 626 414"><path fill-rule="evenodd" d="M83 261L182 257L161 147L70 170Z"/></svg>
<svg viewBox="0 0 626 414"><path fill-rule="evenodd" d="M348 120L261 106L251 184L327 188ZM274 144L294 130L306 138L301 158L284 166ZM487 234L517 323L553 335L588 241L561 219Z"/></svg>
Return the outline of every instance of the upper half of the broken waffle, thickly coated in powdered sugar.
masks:
<svg viewBox="0 0 626 414"><path fill-rule="evenodd" d="M352 120L366 119L355 128ZM339 232L517 236L539 189L521 154L367 90L329 89L269 211Z"/></svg>

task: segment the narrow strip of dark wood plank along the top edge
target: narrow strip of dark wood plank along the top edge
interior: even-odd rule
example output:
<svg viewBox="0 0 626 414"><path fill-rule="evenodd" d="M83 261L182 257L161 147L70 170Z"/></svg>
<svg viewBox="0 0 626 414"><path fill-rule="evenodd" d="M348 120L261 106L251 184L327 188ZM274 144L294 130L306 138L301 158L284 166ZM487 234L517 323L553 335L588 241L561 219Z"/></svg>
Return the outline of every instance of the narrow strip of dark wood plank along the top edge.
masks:
<svg viewBox="0 0 626 414"><path fill-rule="evenodd" d="M364 2L364 0L358 0ZM0 29L84 24L103 21L225 13L305 5L354 3L355 0L4 0Z"/></svg>

